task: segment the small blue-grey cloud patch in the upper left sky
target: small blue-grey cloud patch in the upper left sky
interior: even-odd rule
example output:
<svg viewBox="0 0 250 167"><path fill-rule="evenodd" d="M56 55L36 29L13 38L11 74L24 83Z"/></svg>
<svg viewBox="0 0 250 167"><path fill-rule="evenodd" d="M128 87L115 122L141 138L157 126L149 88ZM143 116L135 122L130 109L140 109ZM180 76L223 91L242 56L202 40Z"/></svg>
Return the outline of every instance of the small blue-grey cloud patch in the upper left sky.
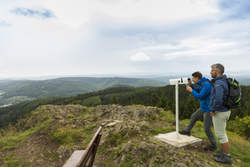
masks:
<svg viewBox="0 0 250 167"><path fill-rule="evenodd" d="M51 10L45 8L29 9L25 7L17 7L12 9L10 12L15 15L42 18L42 19L49 19L55 17L55 15Z"/></svg>

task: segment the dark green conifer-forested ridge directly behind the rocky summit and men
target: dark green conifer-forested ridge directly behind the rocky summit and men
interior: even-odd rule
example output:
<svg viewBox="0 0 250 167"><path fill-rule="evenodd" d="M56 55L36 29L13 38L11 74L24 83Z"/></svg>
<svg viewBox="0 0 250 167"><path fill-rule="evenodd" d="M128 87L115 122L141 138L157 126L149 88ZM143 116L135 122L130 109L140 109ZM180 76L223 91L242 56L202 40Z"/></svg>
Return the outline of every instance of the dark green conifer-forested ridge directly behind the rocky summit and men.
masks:
<svg viewBox="0 0 250 167"><path fill-rule="evenodd" d="M230 116L234 120L236 116L243 118L250 115L250 86L241 86L242 107L232 110ZM157 106L165 110L175 112L175 88L172 85L163 87L114 87L110 89L79 94L71 97L49 97L29 102L22 102L9 107L0 108L0 127L6 127L9 123L15 124L17 119L24 117L40 105L67 105L97 106L108 104L120 104L123 106L142 104L145 106ZM179 86L179 116L180 119L189 119L191 114L199 108L199 100L195 99L186 89L185 85Z"/></svg>

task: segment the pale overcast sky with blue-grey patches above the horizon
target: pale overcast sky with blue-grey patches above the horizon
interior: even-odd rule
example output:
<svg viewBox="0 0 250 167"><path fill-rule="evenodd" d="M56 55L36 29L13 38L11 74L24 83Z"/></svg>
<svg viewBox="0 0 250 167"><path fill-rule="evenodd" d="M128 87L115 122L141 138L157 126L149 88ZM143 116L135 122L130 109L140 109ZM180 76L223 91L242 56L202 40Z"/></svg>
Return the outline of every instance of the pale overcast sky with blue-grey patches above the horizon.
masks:
<svg viewBox="0 0 250 167"><path fill-rule="evenodd" d="M0 78L250 72L249 0L0 0Z"/></svg>

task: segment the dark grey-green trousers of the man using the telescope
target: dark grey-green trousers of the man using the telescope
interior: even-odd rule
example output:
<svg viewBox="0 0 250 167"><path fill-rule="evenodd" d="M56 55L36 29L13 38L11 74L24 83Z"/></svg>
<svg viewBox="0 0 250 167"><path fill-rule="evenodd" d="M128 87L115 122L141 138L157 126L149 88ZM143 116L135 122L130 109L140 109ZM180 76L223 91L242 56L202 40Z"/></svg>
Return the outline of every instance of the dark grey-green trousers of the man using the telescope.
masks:
<svg viewBox="0 0 250 167"><path fill-rule="evenodd" d="M186 132L190 132L191 129L194 127L196 121L203 117L203 128L204 131L210 141L210 145L213 147L217 147L217 142L214 138L213 131L211 130L211 126L213 124L212 116L209 112L202 112L199 108L195 113L192 114L191 119L187 127L185 128Z"/></svg>

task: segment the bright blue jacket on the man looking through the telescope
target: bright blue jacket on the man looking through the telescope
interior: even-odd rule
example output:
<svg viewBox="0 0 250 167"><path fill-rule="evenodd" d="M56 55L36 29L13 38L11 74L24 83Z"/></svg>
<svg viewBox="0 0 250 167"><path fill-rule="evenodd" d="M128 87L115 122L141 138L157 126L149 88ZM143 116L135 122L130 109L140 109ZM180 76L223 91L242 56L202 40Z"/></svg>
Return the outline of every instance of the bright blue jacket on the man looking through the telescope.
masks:
<svg viewBox="0 0 250 167"><path fill-rule="evenodd" d="M208 81L208 82L204 82ZM204 82L204 83L203 83ZM203 83L202 87L201 84ZM209 108L209 99L210 99L210 93L212 85L209 82L209 79L203 77L199 82L197 83L199 85L197 88L194 88L194 85L191 85L191 88L193 88L193 91L191 94L200 100L200 107L202 112L210 112Z"/></svg>

